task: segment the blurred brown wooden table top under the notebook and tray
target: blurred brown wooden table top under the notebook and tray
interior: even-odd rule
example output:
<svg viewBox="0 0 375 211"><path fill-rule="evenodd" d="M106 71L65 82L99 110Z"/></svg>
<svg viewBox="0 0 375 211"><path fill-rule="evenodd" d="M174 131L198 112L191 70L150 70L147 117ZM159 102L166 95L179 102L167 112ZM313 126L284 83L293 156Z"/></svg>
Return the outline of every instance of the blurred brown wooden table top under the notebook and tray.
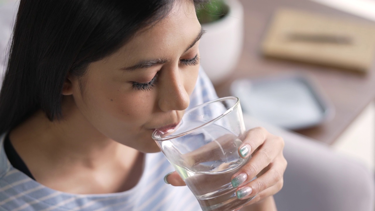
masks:
<svg viewBox="0 0 375 211"><path fill-rule="evenodd" d="M335 107L335 116L317 127L299 130L300 134L332 144L362 110L375 99L375 65L366 75L335 68L267 59L260 54L260 43L272 20L273 12L281 7L304 9L336 17L370 21L320 5L308 0L240 0L245 10L245 42L242 56L228 80L216 84L217 94L228 96L229 86L237 78L258 78L302 73L315 82L318 89ZM375 24L375 23L372 23ZM375 35L374 35L375 36Z"/></svg>

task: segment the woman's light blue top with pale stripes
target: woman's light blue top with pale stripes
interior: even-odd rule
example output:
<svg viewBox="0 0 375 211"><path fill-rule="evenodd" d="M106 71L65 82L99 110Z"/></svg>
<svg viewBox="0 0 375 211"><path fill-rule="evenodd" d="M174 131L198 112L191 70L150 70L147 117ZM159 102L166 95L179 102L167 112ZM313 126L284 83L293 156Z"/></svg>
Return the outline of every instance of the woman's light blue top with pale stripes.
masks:
<svg viewBox="0 0 375 211"><path fill-rule="evenodd" d="M190 107L217 98L200 70ZM161 152L147 154L144 173L131 190L111 194L70 194L34 181L9 163L0 139L0 211L199 211L187 187L173 187L163 177L173 167Z"/></svg>

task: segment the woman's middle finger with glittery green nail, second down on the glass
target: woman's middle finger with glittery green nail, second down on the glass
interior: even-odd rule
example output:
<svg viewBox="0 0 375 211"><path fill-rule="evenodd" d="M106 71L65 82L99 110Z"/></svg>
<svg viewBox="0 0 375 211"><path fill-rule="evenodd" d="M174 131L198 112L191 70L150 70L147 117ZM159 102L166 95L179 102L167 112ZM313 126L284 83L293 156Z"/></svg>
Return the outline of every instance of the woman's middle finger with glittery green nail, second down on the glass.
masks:
<svg viewBox="0 0 375 211"><path fill-rule="evenodd" d="M272 161L275 161L277 156L280 156L279 159L285 160L282 156L283 148L284 140L277 136L270 137L263 143L248 163L232 176L233 187L239 187L241 184L246 184L251 181L251 179L257 176L264 168L269 166ZM284 173L284 171L282 173Z"/></svg>

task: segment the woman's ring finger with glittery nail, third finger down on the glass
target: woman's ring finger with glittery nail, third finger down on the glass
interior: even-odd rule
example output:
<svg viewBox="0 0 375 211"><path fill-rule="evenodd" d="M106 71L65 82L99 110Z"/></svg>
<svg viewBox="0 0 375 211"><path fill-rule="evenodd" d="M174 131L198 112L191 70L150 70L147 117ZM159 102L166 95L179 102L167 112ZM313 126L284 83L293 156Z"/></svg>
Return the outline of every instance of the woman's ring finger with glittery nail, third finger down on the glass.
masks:
<svg viewBox="0 0 375 211"><path fill-rule="evenodd" d="M287 167L285 159L277 159L275 163L270 164L269 170L261 175L260 177L254 179L253 181L249 182L243 187L238 188L236 194L239 199L248 199L249 197L255 196L262 191L270 188L270 187L278 187L279 191L282 187L279 187L280 181L283 184L284 179L282 175L285 172ZM276 188L277 189L277 188ZM276 190L275 189L275 190Z"/></svg>

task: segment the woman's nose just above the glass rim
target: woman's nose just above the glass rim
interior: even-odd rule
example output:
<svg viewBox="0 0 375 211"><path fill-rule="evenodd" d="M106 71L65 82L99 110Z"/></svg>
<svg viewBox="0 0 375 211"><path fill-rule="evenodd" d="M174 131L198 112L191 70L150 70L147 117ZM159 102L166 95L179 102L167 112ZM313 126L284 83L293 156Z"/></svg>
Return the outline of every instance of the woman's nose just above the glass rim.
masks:
<svg viewBox="0 0 375 211"><path fill-rule="evenodd" d="M160 74L159 81L159 108L168 112L171 110L185 110L189 106L189 95L184 86L183 75L178 67L169 69Z"/></svg>

